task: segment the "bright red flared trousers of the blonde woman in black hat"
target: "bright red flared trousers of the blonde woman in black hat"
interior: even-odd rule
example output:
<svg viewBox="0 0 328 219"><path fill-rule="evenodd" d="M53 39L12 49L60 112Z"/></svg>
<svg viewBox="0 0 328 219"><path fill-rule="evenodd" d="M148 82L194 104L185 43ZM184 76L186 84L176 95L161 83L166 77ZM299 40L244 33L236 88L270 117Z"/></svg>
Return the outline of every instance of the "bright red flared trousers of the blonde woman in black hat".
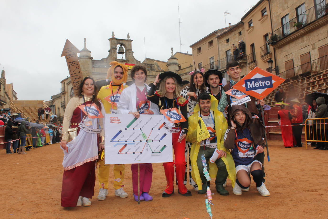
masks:
<svg viewBox="0 0 328 219"><path fill-rule="evenodd" d="M187 187L183 184L184 174L186 172L186 160L185 160L185 147L186 141L183 139L181 143L178 142L179 133L172 134L172 144L174 149L175 160L170 163L163 163L167 186L165 192L172 194L174 191L174 165L175 165L175 176L178 181L178 189L180 193L184 194L187 192Z"/></svg>

